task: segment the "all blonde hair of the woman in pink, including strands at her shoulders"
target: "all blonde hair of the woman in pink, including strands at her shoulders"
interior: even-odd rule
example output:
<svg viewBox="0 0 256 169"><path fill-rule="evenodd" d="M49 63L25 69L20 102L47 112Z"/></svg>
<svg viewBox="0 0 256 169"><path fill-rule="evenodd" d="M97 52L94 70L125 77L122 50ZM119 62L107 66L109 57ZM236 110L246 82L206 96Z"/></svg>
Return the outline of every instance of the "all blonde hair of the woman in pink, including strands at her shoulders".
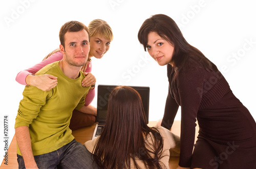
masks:
<svg viewBox="0 0 256 169"><path fill-rule="evenodd" d="M106 21L101 20L101 19L94 19L92 20L89 25L88 25L88 29L90 32L90 37L98 35L101 38L105 38L108 39L110 41L113 40L113 32L112 29L110 27L110 25L108 23L106 23ZM60 49L57 48L53 51L51 51L44 59L46 60L47 58L49 58L52 54L59 52ZM88 61L86 62L86 65L84 65L81 70L84 72L87 68L88 62L91 62L91 59L88 58Z"/></svg>

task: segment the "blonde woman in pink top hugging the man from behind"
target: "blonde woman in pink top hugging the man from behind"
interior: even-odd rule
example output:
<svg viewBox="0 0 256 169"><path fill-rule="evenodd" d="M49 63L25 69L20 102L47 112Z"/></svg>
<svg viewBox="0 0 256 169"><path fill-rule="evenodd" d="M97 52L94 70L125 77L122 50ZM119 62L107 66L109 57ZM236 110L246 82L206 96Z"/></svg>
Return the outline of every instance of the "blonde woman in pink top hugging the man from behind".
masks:
<svg viewBox="0 0 256 169"><path fill-rule="evenodd" d="M101 19L92 20L88 29L90 31L90 52L89 59L86 65L82 67L82 71L87 76L82 80L82 86L92 86L91 90L86 96L85 105L88 114L83 114L78 110L73 111L73 115L70 121L70 129L78 129L83 126L92 125L95 122L95 116L97 110L91 105L91 102L95 96L95 77L90 73L92 71L91 58L95 57L101 59L103 55L109 50L110 43L113 40L113 33L110 25L106 21ZM53 50L51 53L44 58L42 62L34 65L33 67L19 72L16 76L16 81L22 85L32 85L43 91L48 91L57 85L57 77L45 74L45 75L34 75L38 70L44 66L60 61L63 58L63 54L59 48Z"/></svg>

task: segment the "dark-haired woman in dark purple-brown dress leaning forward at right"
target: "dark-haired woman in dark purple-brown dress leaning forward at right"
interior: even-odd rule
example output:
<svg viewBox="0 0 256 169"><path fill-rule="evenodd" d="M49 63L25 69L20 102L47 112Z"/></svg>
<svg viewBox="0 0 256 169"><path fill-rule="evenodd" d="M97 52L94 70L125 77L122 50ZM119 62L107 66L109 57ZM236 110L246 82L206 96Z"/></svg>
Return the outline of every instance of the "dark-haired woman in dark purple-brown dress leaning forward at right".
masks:
<svg viewBox="0 0 256 169"><path fill-rule="evenodd" d="M153 15L141 25L138 39L159 65L167 65L169 90L161 126L170 129L181 106L178 168L256 168L253 117L217 67L186 42L175 21Z"/></svg>

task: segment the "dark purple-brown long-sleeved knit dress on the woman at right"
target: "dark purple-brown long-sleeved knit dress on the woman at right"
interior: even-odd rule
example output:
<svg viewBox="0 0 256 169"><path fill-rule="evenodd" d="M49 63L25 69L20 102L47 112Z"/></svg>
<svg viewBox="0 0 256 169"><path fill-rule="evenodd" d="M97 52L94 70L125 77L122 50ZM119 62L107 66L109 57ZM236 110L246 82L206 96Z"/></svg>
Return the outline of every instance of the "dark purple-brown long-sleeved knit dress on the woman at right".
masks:
<svg viewBox="0 0 256 169"><path fill-rule="evenodd" d="M161 124L170 129L181 107L179 165L256 168L256 123L221 72L198 67L184 70L177 74L167 65L169 92ZM199 135L194 149L196 121Z"/></svg>

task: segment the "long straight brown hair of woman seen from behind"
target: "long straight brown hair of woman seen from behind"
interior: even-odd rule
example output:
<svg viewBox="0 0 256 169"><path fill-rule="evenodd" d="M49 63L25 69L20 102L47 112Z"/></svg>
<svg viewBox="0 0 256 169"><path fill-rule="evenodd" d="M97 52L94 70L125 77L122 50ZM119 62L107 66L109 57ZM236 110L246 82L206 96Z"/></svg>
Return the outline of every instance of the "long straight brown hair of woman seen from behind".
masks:
<svg viewBox="0 0 256 169"><path fill-rule="evenodd" d="M159 131L146 125L139 93L131 87L115 88L109 98L105 127L94 149L98 166L130 168L133 161L139 168L135 161L138 158L147 168L162 168L159 161L162 150Z"/></svg>

